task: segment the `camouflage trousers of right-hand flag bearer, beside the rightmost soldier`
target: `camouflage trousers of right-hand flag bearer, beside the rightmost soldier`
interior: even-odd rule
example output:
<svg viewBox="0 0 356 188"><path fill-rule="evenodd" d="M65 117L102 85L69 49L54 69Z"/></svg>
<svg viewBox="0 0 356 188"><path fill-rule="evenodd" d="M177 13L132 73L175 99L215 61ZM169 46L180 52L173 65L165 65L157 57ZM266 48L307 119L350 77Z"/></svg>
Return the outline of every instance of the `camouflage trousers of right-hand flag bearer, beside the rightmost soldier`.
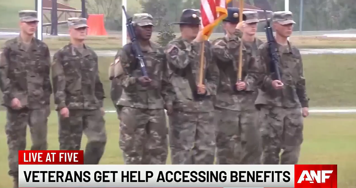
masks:
<svg viewBox="0 0 356 188"><path fill-rule="evenodd" d="M261 164L257 110L215 108L216 164Z"/></svg>

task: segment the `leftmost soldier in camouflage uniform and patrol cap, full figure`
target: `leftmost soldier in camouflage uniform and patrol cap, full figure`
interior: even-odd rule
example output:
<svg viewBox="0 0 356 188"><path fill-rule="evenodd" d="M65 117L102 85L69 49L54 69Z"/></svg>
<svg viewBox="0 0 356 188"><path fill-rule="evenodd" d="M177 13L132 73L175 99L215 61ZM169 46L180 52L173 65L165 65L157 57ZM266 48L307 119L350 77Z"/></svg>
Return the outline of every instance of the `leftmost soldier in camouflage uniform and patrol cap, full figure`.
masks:
<svg viewBox="0 0 356 188"><path fill-rule="evenodd" d="M20 11L20 36L5 42L0 52L0 88L7 108L5 132L9 146L10 176L18 186L18 151L26 149L30 127L31 150L47 150L47 118L52 86L51 56L45 43L33 37L36 11Z"/></svg>

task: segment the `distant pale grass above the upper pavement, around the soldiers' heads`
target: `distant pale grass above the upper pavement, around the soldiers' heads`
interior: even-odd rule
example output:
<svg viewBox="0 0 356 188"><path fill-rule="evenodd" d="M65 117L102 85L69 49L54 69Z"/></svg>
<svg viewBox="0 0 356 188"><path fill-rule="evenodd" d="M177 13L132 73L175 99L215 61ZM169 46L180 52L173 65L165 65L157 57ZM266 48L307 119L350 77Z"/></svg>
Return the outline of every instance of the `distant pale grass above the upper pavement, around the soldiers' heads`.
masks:
<svg viewBox="0 0 356 188"><path fill-rule="evenodd" d="M93 2L94 0L89 0ZM63 2L62 0L58 0L58 2ZM133 2L129 2L133 3ZM70 0L69 6L72 6L77 9L81 9L80 0ZM136 6L136 5L135 5ZM138 5L137 5L138 6ZM3 29L17 29L19 18L18 11L20 10L34 10L35 9L35 1L34 0L16 0L16 3L12 1L0 0L0 17L6 19L0 19L0 28ZM44 10L43 14L49 15L48 10ZM74 14L72 15L74 16ZM79 16L79 14L77 15ZM48 21L43 18L43 23L47 23ZM63 16L61 20L63 21ZM43 32L46 32L46 27L43 27ZM67 31L65 25L61 25L58 27L61 31ZM178 31L178 28L176 28ZM50 28L49 28L50 31ZM179 37L179 33L176 33L177 37ZM222 37L221 33L213 33L211 35L210 40L214 40L218 37ZM157 33L152 36L152 40L156 41ZM261 37L262 40L265 40L265 37ZM7 39L0 38L0 47L4 44ZM66 45L69 41L68 37L54 37L54 38L45 38L44 41L47 43L51 50L58 50ZM356 48L356 38L328 38L321 36L292 36L290 37L290 41L293 42L295 46L299 48ZM122 37L120 32L115 32L115 35L111 36L96 36L89 37L87 40L87 44L96 50L112 50L121 47Z"/></svg>

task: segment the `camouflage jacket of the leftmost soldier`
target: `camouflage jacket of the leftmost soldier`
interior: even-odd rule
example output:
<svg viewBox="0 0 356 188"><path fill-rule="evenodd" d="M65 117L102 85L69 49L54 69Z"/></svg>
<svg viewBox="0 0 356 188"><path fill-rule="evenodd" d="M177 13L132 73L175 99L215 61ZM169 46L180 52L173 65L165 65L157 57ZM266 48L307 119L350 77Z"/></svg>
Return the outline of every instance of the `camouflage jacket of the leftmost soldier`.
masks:
<svg viewBox="0 0 356 188"><path fill-rule="evenodd" d="M0 52L1 53L1 52ZM41 109L49 105L51 56L45 43L33 38L28 50L20 37L5 42L0 55L0 88L4 106L14 98L23 107Z"/></svg>

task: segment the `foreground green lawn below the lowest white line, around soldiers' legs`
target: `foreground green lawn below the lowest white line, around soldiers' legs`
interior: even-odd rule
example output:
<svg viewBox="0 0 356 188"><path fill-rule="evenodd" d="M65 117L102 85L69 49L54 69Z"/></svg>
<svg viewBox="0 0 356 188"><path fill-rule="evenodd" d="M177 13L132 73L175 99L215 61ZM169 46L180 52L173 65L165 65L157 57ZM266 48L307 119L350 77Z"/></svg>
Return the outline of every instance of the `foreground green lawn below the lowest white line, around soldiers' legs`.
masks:
<svg viewBox="0 0 356 188"><path fill-rule="evenodd" d="M5 113L0 113L5 119ZM119 149L119 120L116 113L105 115L108 143L100 164L122 164ZM4 130L5 121L0 122ZM312 115L305 119L304 143L300 156L301 164L337 164L338 187L356 188L356 115ZM58 149L57 114L52 111L48 121L48 149ZM30 133L27 131L27 148L31 146ZM12 179L7 175L7 145L4 131L0 131L0 188L12 186ZM83 147L86 143L83 137ZM167 163L170 164L168 158Z"/></svg>

